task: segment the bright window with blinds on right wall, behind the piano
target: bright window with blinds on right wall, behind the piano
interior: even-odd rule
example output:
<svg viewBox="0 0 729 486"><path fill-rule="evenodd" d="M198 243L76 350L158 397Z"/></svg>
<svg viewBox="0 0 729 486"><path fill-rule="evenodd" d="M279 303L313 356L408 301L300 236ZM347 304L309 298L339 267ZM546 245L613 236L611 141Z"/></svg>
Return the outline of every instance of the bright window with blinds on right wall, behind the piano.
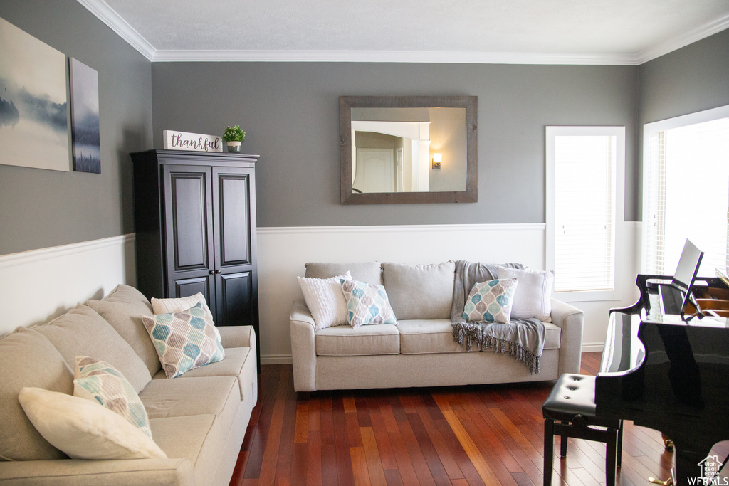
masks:
<svg viewBox="0 0 729 486"><path fill-rule="evenodd" d="M685 240L699 275L728 266L729 106L644 125L642 272L673 275Z"/></svg>

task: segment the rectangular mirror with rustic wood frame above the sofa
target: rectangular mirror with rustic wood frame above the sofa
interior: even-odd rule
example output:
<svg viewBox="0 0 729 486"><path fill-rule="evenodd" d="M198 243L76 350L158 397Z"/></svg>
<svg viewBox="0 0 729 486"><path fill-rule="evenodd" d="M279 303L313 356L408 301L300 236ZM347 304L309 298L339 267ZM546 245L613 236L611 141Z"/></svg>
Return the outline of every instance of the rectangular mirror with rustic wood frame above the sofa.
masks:
<svg viewBox="0 0 729 486"><path fill-rule="evenodd" d="M475 96L340 96L342 204L475 203Z"/></svg>

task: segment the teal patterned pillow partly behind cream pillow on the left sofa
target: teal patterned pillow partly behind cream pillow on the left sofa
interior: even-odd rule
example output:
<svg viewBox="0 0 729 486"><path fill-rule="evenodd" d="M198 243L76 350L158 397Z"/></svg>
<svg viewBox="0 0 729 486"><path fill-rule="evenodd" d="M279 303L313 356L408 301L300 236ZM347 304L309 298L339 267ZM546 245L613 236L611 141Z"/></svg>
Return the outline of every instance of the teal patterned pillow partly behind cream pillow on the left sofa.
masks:
<svg viewBox="0 0 729 486"><path fill-rule="evenodd" d="M134 387L119 370L106 361L77 356L74 378L74 396L96 401L102 407L117 412L152 438L147 410Z"/></svg>

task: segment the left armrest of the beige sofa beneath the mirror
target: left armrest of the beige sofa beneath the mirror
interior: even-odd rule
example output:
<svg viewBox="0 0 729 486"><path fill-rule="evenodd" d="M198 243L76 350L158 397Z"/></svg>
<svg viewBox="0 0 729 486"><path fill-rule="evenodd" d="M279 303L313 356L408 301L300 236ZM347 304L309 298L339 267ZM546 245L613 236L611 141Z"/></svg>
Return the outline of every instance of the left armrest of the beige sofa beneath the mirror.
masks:
<svg viewBox="0 0 729 486"><path fill-rule="evenodd" d="M291 308L291 356L294 364L294 390L316 390L316 349L314 318L306 303L295 300Z"/></svg>

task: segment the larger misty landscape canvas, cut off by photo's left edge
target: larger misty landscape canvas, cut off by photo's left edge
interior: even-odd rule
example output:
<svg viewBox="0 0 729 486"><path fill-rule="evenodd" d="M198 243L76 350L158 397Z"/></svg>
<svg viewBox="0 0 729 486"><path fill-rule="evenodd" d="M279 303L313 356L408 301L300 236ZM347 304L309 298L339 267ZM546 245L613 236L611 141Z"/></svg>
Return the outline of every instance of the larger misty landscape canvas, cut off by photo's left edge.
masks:
<svg viewBox="0 0 729 486"><path fill-rule="evenodd" d="M0 18L0 163L69 171L66 56Z"/></svg>

